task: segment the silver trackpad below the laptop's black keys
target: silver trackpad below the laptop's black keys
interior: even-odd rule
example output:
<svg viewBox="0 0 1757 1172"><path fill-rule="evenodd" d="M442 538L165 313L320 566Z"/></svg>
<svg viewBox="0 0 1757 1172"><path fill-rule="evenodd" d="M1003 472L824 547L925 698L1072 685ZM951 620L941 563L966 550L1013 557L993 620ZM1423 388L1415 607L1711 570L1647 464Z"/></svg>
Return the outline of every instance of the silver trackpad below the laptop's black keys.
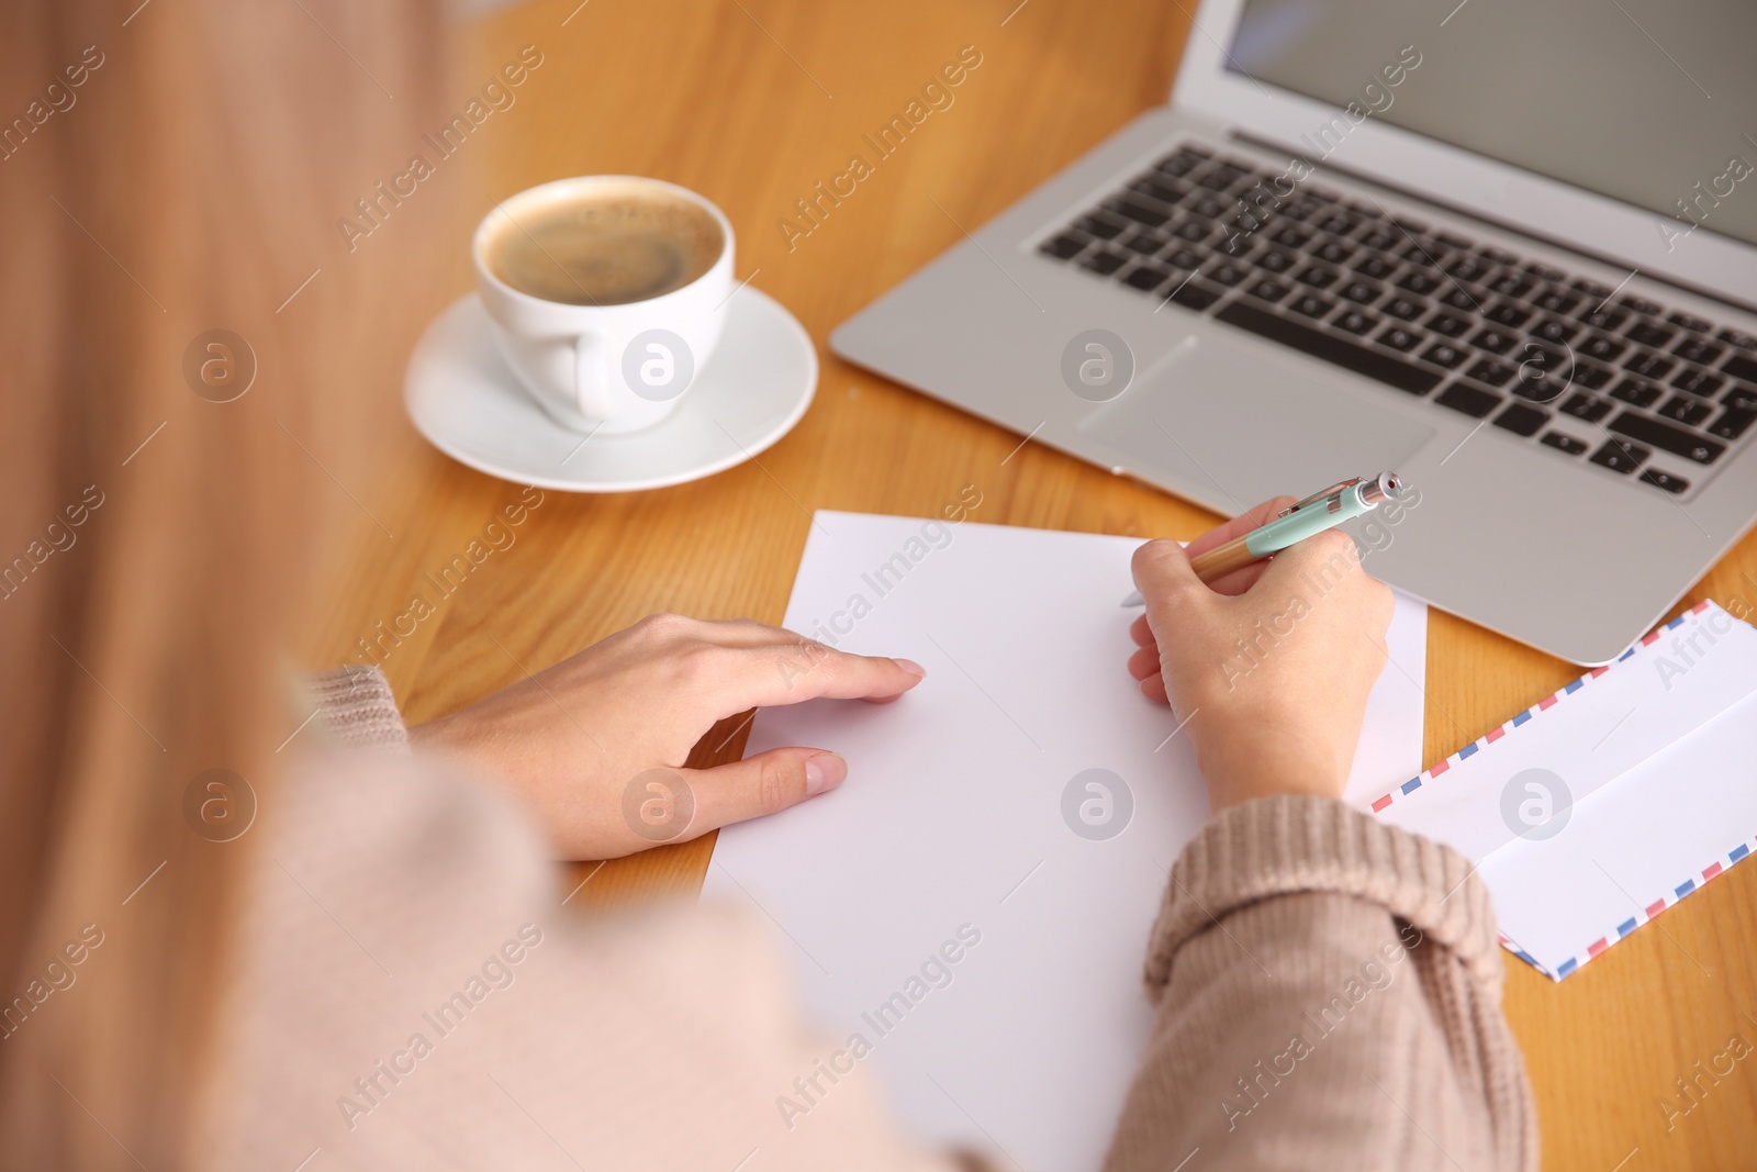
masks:
<svg viewBox="0 0 1757 1172"><path fill-rule="evenodd" d="M1186 339L1142 374L1081 430L1126 453L1128 471L1144 480L1212 485L1235 511L1395 471L1434 436L1423 423L1376 411L1323 373L1214 337Z"/></svg>

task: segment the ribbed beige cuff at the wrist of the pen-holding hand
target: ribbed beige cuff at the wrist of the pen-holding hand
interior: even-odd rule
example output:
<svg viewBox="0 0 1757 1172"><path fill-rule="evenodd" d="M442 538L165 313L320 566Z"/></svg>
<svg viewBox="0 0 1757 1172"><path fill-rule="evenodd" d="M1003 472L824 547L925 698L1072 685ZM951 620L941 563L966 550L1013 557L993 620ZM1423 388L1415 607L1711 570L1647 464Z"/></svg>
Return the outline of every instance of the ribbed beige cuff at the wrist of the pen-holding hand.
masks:
<svg viewBox="0 0 1757 1172"><path fill-rule="evenodd" d="M1167 986L1191 937L1253 903L1307 891L1383 907L1499 993L1495 914L1469 859L1341 801L1276 796L1223 810L1184 847L1153 926L1149 996Z"/></svg>

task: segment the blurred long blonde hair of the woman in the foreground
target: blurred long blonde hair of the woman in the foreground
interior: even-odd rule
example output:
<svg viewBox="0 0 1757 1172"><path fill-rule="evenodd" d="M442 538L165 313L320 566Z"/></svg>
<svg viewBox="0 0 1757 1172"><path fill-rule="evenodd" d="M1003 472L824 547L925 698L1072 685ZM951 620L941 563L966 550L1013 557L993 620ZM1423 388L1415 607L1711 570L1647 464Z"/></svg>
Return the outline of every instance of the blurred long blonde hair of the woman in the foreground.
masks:
<svg viewBox="0 0 1757 1172"><path fill-rule="evenodd" d="M322 539L367 524L348 494L439 288L411 258L462 248L436 183L351 253L336 223L443 105L432 5L135 4L0 14L7 1167L202 1161L228 926L302 715L281 664ZM184 378L211 329L255 351L232 402ZM209 768L253 833L184 821Z"/></svg>

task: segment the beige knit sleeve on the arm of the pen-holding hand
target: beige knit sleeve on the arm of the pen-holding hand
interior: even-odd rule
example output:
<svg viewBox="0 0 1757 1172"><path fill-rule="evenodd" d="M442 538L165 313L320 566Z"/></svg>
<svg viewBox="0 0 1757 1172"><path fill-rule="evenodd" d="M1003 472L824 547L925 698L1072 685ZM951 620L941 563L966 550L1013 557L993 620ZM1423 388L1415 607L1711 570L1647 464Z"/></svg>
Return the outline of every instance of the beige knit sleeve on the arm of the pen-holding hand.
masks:
<svg viewBox="0 0 1757 1172"><path fill-rule="evenodd" d="M1225 810L1172 870L1105 1167L1536 1168L1500 982L1457 850L1321 798Z"/></svg>

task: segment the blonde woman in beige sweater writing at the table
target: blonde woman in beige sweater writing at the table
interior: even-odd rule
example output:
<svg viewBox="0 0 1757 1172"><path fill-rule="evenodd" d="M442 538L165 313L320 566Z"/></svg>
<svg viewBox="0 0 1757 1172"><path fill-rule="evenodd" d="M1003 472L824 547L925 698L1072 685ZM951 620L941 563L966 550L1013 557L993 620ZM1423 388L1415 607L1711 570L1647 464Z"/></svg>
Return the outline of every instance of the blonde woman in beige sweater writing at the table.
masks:
<svg viewBox="0 0 1757 1172"><path fill-rule="evenodd" d="M322 622L323 536L371 481L423 290L448 286L427 242L460 239L455 183L336 234L443 112L429 9L0 19L23 111L0 160L0 550L23 552L0 601L4 1163L947 1167L864 1074L777 1118L821 1049L761 924L582 924L548 863L638 849L622 785L713 720L886 701L919 669L826 652L775 696L761 648L794 636L659 617L406 731L376 673L300 691L281 666ZM1158 1016L1114 1168L1536 1161L1485 889L1335 801L1383 587L1348 575L1235 691L1212 669L1349 550L1318 539L1219 592L1172 543L1137 555L1126 668L1189 713L1216 819L1144 942ZM833 749L696 778L696 826L840 784ZM228 842L188 805L241 801L192 784L214 768L260 801ZM1367 963L1383 988L1290 1045Z"/></svg>

